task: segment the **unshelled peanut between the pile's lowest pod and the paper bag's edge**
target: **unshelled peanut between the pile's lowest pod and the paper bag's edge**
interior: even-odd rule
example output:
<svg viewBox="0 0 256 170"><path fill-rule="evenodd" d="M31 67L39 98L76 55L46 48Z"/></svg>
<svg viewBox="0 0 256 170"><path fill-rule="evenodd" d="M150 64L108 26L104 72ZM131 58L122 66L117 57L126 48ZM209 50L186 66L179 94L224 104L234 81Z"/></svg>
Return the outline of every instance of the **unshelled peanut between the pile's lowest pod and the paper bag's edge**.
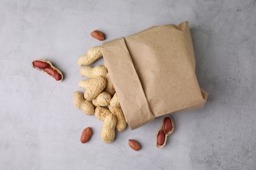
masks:
<svg viewBox="0 0 256 170"><path fill-rule="evenodd" d="M125 116L123 115L123 110L121 107L113 107L112 105L108 106L108 109L110 109L110 112L116 116L117 124L116 128L118 131L123 131L125 127L127 126L127 123L125 121Z"/></svg>

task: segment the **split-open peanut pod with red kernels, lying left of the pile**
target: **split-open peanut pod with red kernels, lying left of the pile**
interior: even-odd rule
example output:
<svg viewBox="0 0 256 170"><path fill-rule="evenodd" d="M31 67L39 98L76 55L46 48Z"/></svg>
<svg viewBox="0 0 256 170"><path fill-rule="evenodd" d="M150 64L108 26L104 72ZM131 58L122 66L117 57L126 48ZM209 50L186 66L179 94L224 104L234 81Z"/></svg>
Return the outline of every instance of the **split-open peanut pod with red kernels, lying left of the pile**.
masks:
<svg viewBox="0 0 256 170"><path fill-rule="evenodd" d="M61 71L54 67L53 63L47 59L33 60L32 67L49 76L52 76L57 82L61 82L64 78Z"/></svg>

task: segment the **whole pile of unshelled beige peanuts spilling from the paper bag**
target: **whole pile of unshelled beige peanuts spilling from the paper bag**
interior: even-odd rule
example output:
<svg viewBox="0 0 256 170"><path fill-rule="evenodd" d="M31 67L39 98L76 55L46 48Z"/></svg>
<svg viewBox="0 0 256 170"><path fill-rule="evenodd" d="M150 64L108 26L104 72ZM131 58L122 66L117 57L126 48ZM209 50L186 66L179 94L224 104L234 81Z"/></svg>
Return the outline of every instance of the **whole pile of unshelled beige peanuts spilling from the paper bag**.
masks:
<svg viewBox="0 0 256 170"><path fill-rule="evenodd" d="M91 65L101 57L100 46L95 46L77 59L77 64L81 67L80 75L90 79L79 82L79 87L85 89L85 93L74 93L74 105L85 114L94 114L98 120L102 120L101 139L104 143L112 143L116 136L115 129L123 131L127 123L108 69L104 65L85 66Z"/></svg>

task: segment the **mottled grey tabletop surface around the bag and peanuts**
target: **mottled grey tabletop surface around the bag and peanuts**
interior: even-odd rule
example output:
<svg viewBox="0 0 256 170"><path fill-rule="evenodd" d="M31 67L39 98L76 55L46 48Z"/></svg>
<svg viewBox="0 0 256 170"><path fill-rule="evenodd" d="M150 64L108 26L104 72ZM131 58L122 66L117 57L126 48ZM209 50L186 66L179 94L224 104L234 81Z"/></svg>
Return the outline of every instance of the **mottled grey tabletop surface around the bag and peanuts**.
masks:
<svg viewBox="0 0 256 170"><path fill-rule="evenodd" d="M76 60L102 42L188 20L201 110L171 114L175 133L158 149L162 118L102 143L102 122L73 105ZM256 169L256 1L0 1L0 169ZM46 58L64 81L39 73ZM100 59L95 65L102 64ZM93 127L89 143L81 132ZM129 148L137 139L142 150Z"/></svg>

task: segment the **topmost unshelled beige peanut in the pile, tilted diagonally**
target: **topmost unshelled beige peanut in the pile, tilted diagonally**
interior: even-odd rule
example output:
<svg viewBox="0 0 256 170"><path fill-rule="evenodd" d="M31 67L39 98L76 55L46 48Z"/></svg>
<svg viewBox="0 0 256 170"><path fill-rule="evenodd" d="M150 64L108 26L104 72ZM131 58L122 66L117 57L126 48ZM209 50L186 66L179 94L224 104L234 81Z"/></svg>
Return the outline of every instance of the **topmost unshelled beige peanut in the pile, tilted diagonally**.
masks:
<svg viewBox="0 0 256 170"><path fill-rule="evenodd" d="M95 46L92 48L89 48L87 53L80 58L77 59L77 64L79 66L82 65L91 65L94 63L97 59L101 58L102 54L100 52L100 46Z"/></svg>

